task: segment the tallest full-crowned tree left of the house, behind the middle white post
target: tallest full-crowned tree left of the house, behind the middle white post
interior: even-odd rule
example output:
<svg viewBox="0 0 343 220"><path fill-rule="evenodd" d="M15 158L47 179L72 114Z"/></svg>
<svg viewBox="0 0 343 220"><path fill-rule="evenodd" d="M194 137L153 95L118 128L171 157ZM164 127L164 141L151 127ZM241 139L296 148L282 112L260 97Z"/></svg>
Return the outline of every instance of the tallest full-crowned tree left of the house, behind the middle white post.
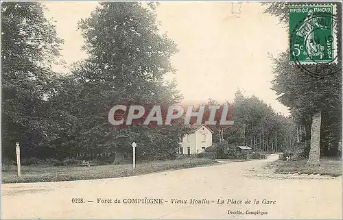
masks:
<svg viewBox="0 0 343 220"><path fill-rule="evenodd" d="M136 141L138 158L175 155L183 126L147 127L140 121L113 127L107 121L108 110L117 104L150 109L180 100L175 82L163 80L175 71L170 58L176 44L159 34L154 10L140 2L101 2L79 27L88 58L73 69L73 82L81 85L74 105L82 112L73 154L115 151L122 158L131 155L130 143Z"/></svg>

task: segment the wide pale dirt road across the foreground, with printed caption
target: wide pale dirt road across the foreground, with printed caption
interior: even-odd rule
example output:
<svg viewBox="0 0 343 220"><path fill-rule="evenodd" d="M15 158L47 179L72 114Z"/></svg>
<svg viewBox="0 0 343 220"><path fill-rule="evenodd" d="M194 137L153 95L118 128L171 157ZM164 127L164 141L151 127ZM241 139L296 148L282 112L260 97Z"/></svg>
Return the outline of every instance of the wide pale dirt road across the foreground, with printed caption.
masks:
<svg viewBox="0 0 343 220"><path fill-rule="evenodd" d="M274 175L261 169L276 158L130 178L2 184L1 215L3 219L342 219L342 178ZM73 198L85 202L73 203Z"/></svg>

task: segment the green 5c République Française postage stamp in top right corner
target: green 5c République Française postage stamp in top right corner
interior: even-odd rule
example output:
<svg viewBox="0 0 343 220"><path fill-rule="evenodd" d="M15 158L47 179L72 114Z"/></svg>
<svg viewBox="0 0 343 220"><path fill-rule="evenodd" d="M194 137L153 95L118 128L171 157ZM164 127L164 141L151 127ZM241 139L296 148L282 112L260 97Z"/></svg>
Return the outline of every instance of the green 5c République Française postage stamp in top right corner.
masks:
<svg viewBox="0 0 343 220"><path fill-rule="evenodd" d="M290 62L337 62L336 8L331 4L289 6Z"/></svg>

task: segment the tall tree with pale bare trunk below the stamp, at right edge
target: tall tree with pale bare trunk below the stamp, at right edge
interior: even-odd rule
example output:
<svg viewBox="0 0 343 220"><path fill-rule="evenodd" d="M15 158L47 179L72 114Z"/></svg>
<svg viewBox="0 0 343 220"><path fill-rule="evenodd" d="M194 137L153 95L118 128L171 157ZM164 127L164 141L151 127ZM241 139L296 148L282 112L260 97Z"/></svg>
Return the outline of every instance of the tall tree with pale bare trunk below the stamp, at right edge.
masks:
<svg viewBox="0 0 343 220"><path fill-rule="evenodd" d="M268 5L265 12L277 16L283 25L287 24L289 3L263 4ZM340 7L338 8L338 18L340 18ZM341 21L338 20L338 24L340 24ZM341 25L338 26L341 27ZM339 31L339 33L341 32ZM300 127L305 127L305 144L309 139L306 136L311 138L307 164L318 165L320 151L324 154L327 152L331 152L331 155L337 154L338 140L342 138L338 132L332 133L335 134L335 138L328 138L328 136L332 136L328 131L341 130L342 117L338 113L342 110L342 70L338 69L342 66L341 60L338 59L340 64L331 66L331 70L337 72L336 74L319 78L306 75L296 66L290 65L288 57L289 51L274 59L276 66L273 89L279 95L279 101L291 108L292 115L300 123ZM309 66L309 68L311 71L315 71L316 66ZM325 117L323 118L323 116ZM332 123L334 121L332 118L335 118L338 123ZM326 150L328 147L329 150ZM308 149L307 146L305 149Z"/></svg>

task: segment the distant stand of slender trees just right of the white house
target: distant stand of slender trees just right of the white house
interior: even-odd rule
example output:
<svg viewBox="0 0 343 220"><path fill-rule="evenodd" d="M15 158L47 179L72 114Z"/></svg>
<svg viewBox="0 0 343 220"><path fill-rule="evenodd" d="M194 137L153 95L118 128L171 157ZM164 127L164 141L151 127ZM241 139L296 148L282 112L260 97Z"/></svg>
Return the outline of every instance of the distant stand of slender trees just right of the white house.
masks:
<svg viewBox="0 0 343 220"><path fill-rule="evenodd" d="M214 100L206 106L217 104ZM230 112L234 125L209 125L213 142L226 140L227 145L250 146L259 151L285 151L296 147L296 125L292 118L274 112L271 106L252 95L237 90Z"/></svg>

